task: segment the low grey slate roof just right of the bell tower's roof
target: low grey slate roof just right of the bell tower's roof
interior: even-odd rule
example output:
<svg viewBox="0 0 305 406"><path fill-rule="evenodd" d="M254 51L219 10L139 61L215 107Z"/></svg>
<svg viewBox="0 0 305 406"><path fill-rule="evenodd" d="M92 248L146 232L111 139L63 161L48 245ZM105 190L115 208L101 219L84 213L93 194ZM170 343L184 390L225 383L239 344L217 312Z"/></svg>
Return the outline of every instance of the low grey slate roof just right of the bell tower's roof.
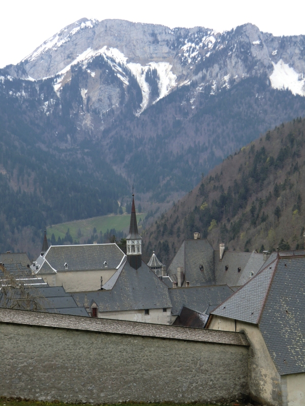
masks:
<svg viewBox="0 0 305 406"><path fill-rule="evenodd" d="M171 288L169 296L172 302L172 314L178 315L182 306L205 313L211 306L217 306L232 294L227 285L193 286L188 288Z"/></svg>

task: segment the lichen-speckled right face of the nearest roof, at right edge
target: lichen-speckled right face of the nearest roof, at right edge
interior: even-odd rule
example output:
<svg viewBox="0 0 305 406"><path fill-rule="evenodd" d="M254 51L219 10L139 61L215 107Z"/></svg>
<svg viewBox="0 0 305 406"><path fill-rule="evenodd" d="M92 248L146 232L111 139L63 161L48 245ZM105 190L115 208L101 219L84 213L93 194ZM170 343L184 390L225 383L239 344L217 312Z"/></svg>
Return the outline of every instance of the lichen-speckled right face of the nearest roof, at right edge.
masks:
<svg viewBox="0 0 305 406"><path fill-rule="evenodd" d="M305 372L304 257L279 259L259 328L280 375Z"/></svg>

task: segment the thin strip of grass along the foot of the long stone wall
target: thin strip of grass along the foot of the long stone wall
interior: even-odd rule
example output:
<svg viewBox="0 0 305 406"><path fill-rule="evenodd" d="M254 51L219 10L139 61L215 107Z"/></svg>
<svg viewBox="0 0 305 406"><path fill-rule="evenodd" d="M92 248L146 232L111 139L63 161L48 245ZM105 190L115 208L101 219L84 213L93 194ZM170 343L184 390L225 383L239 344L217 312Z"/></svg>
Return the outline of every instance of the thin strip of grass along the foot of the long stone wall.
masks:
<svg viewBox="0 0 305 406"><path fill-rule="evenodd" d="M57 406L75 406L75 403L62 403L59 401L54 401L54 402L39 402L36 400L24 400L24 399L11 399L11 398L5 398L5 397L0 397L0 406L49 406L49 405L57 405ZM173 403L173 402L162 402L162 403L145 403L145 402L120 402L120 403L115 403L115 404L110 404L110 403L103 403L103 406L121 406L122 404L128 404L128 406L177 406L183 404L184 406L215 406L221 405L221 406L245 406L245 403L243 402L231 402L231 403L197 403L197 402L192 402L192 403ZM83 406L92 406L92 404L88 403L82 403ZM249 403L247 403L247 406L251 406Z"/></svg>

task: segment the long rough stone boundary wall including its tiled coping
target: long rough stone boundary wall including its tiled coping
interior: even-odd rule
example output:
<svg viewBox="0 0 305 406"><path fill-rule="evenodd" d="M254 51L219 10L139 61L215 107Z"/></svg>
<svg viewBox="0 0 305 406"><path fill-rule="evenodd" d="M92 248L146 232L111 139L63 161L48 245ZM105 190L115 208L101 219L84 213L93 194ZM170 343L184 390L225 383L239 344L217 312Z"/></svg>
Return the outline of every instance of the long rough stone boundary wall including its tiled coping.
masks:
<svg viewBox="0 0 305 406"><path fill-rule="evenodd" d="M0 396L221 401L248 394L242 333L0 309Z"/></svg>

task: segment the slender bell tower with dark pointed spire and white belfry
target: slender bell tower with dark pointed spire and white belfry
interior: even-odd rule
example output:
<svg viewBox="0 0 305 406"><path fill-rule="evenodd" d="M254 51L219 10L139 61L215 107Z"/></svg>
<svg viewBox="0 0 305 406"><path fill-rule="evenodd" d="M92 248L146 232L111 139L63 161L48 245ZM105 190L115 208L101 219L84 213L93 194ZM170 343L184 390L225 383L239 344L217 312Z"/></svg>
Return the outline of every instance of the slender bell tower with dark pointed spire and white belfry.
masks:
<svg viewBox="0 0 305 406"><path fill-rule="evenodd" d="M126 243L128 262L134 269L138 269L142 263L142 237L138 233L134 193L132 194L130 227Z"/></svg>

